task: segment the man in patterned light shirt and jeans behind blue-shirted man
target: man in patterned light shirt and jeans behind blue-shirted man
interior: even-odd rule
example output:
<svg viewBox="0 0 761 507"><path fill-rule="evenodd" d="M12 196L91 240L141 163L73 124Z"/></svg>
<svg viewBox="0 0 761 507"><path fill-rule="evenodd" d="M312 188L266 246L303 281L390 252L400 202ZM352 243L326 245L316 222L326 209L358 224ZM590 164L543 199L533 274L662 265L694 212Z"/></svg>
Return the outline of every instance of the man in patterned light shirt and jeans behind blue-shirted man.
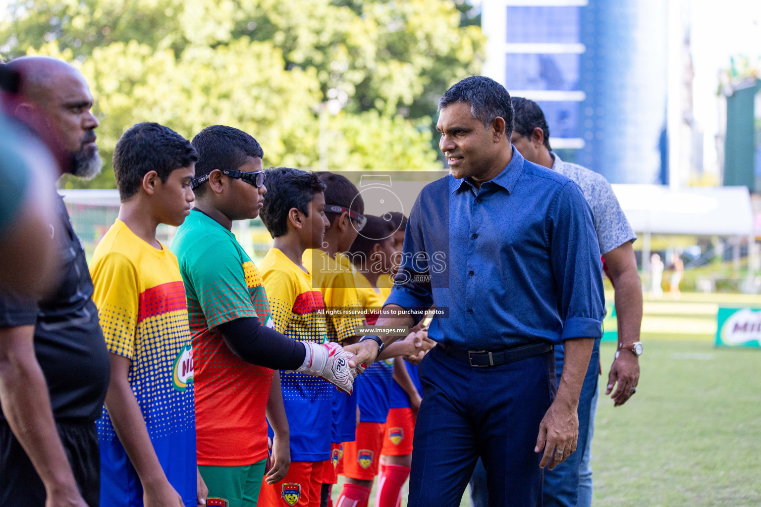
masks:
<svg viewBox="0 0 761 507"><path fill-rule="evenodd" d="M542 109L522 97L512 97L515 109L515 128L512 144L526 160L567 176L576 182L592 208L597 241L603 254L605 272L615 287L618 317L619 351L610 367L606 395L613 391L615 406L626 403L635 393L639 379L638 356L630 350L639 342L642 324L642 283L632 242L637 239L621 210L610 183L599 173L575 163L560 160L549 147L549 127ZM641 350L641 349L640 349ZM562 372L564 351L555 347L558 381ZM597 375L600 374L600 341L594 344L581 398L578 404L579 437L576 452L554 470L544 472L543 505L545 507L589 507L592 501L592 470L589 465L590 444L594 432L594 413L597 407ZM473 507L486 507L485 476L479 462L471 480Z"/></svg>

